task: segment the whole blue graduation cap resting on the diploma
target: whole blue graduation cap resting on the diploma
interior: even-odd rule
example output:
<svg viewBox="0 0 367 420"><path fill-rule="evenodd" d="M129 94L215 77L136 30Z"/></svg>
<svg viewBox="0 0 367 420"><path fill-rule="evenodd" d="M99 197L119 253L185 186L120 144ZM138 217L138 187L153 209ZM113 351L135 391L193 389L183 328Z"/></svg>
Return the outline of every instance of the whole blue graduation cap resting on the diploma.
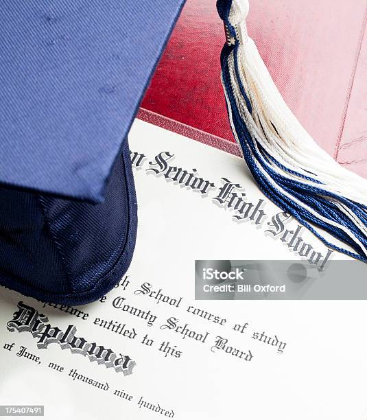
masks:
<svg viewBox="0 0 367 420"><path fill-rule="evenodd" d="M127 135L183 0L11 1L0 14L0 283L103 296L137 233Z"/></svg>

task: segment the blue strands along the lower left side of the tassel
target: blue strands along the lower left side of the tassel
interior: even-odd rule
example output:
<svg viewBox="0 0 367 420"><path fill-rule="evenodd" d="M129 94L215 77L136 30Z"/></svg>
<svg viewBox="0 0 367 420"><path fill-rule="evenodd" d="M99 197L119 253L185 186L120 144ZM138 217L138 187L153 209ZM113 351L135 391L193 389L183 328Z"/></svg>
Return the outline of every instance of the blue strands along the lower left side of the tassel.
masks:
<svg viewBox="0 0 367 420"><path fill-rule="evenodd" d="M244 154L246 163L248 164L248 167L250 168L250 171L252 172L252 175L259 183L259 186L263 190L264 194L268 196L270 200L276 202L276 204L279 205L279 207L281 207L283 211L288 211L289 213L294 215L296 220L298 220L300 223L307 226L307 228L310 229L316 236L318 236L324 243L326 243L331 248L334 248L334 249L340 250L341 252L346 253L347 255L351 255L355 258L366 261L366 257L362 255L351 253L350 251L345 250L344 248L340 248L338 246L335 246L335 244L331 244L324 237L322 237L322 235L320 235L315 229L313 229L305 220L305 218L310 220L317 226L322 227L322 229L332 230L333 235L335 237L338 237L338 239L342 240L342 242L345 242L346 244L355 248L357 252L361 252L362 250L364 250L364 253L366 255L366 249L365 249L366 235L364 235L361 229L361 226L364 226L364 224L366 224L366 215L362 214L362 211L358 209L357 205L354 202L351 202L351 200L348 200L348 198L337 196L336 194L333 194L330 191L317 188L312 185L300 183L298 180L294 180L294 179L285 177L279 173L276 173L273 170L272 166L270 165L269 161L266 161L265 159L263 159L263 156L261 156L260 154L259 148L257 148L256 145L254 145L252 141L252 137L250 136L250 133L248 132L248 128L246 127L246 124L244 124L244 122L242 121L242 116L239 113L239 107L237 104L237 99L235 98L235 94L233 92L233 84L231 83L230 69L228 65L229 54L232 54L232 53L235 54L235 49L238 49L238 48L239 48L238 43L236 43L236 45L232 48L232 51L228 51L228 48L227 48L228 54L224 54L224 57L223 57L224 59L222 59L222 67L223 67L222 80L223 80L224 87L226 90L228 113L230 113L232 126L233 128L235 127L234 129L234 131L236 132L235 137L237 137L237 139L239 140L239 143L241 145L241 150ZM237 56L237 54L235 54L235 56ZM239 73L238 63L237 65L235 65L235 67L237 67L235 71ZM246 103L247 110L250 112L252 111L252 104L246 95L244 85L241 82L241 78L238 77L238 74L237 74L237 80L239 81L239 91L241 92L241 96L243 97ZM232 95L228 95L228 93L232 93ZM233 97L230 98L228 96L233 96ZM233 124L233 123L236 123L236 124ZM244 142L244 139L246 143ZM252 156L248 148L251 149L251 152L252 154L254 154L254 156ZM287 170L286 167L284 167L284 165L276 162L276 159L274 158L272 158L271 161L272 163L274 163L275 161L275 164L278 167L280 167L284 172L288 172L289 174L298 176L306 180L310 180L313 183L316 183L318 185L321 184L320 181L315 180L309 176L305 176L305 174L300 174L299 172L296 172L294 170ZM303 205L307 205L307 207L308 205L311 205L313 208L318 209L320 213L323 213L327 217L332 218L334 223L330 220L327 220L327 217L325 218L324 215L322 214L318 215L317 213L319 212L316 212L316 215L315 215L314 214L315 211L309 211L305 208L298 207L299 204L294 203L292 198L285 196L285 194L282 194L281 191L277 191L274 185L271 186L271 183L269 185L268 178L263 173L261 173L261 170L259 170L259 163L262 164L261 165L262 169L265 170L268 176L270 176L275 181L275 183L278 184L279 187L282 187L285 193L291 194L293 198L298 198L298 200L303 199L304 201ZM329 196L331 198L334 198L335 200L340 200L347 207L348 206L351 207L351 209L355 211L356 216L352 215L350 212L348 212L348 214L342 214L342 213L338 214L338 212L335 210L337 209L340 210L340 207L334 205L332 202L328 202L325 198L322 198L320 196L318 196L319 201L317 201L312 196L309 196L309 197L306 196L307 198L305 199L303 192L306 192L307 194L309 193L320 194L324 196ZM320 220L319 218L320 216L322 220ZM353 229L353 236L355 237L355 242L357 242L355 243L348 236L348 230L351 229L351 226L352 226L350 223L351 221L350 219L352 219L352 221L355 222L356 220L358 220L358 218L361 219L359 220L359 226L355 226L357 230ZM338 226L338 224L341 224L342 226Z"/></svg>

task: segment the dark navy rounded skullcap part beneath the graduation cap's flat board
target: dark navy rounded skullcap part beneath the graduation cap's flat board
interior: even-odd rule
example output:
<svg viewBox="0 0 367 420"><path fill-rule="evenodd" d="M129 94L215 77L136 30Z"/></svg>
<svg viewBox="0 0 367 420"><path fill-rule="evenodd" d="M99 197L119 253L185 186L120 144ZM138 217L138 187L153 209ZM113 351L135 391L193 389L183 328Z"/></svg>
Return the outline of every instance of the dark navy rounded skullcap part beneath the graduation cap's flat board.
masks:
<svg viewBox="0 0 367 420"><path fill-rule="evenodd" d="M41 301L99 299L128 269L137 199L128 142L99 204L0 187L0 283Z"/></svg>

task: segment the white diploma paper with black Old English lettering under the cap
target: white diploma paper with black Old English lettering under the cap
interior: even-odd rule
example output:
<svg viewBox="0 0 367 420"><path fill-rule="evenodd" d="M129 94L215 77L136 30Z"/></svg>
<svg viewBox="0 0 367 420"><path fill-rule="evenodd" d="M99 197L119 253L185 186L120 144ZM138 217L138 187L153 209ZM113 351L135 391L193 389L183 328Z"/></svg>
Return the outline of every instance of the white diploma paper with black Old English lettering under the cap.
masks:
<svg viewBox="0 0 367 420"><path fill-rule="evenodd" d="M196 260L348 257L285 220L242 159L140 120L129 142L132 264L80 307L0 287L0 405L55 420L367 419L366 301L195 300Z"/></svg>

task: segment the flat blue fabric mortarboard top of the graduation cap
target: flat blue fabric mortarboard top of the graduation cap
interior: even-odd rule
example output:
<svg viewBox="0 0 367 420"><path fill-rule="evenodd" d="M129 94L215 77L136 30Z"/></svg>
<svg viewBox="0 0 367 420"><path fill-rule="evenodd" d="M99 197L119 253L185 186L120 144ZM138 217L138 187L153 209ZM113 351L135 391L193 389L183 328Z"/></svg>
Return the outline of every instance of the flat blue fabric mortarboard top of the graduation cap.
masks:
<svg viewBox="0 0 367 420"><path fill-rule="evenodd" d="M182 0L2 0L0 183L101 201Z"/></svg>

